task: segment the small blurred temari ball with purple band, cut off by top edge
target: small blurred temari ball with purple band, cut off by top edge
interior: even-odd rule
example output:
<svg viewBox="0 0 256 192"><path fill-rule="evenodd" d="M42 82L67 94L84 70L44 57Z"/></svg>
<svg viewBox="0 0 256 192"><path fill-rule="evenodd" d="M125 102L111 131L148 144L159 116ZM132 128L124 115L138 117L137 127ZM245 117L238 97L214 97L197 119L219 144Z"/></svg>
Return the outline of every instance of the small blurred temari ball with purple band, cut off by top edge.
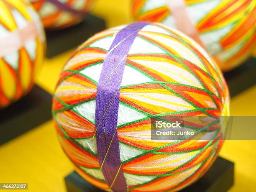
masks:
<svg viewBox="0 0 256 192"><path fill-rule="evenodd" d="M93 0L30 0L46 29L66 28L79 22Z"/></svg>

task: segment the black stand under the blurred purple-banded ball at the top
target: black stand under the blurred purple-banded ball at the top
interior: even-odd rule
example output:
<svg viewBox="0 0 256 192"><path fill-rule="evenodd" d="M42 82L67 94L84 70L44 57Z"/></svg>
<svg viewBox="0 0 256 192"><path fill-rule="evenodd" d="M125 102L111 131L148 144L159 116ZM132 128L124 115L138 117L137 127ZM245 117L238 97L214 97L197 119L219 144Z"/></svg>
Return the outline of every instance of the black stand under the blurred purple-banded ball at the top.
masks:
<svg viewBox="0 0 256 192"><path fill-rule="evenodd" d="M90 15L85 15L81 23L56 31L47 31L46 57L51 58L82 44L87 38L105 29L105 21Z"/></svg>

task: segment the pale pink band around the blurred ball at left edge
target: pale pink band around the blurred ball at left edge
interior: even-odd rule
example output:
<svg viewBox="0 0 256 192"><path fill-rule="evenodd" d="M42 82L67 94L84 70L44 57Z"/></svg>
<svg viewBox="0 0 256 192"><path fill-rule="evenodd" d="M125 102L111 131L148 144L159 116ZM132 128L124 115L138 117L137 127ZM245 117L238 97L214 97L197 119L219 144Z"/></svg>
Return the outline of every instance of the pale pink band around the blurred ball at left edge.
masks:
<svg viewBox="0 0 256 192"><path fill-rule="evenodd" d="M0 37L0 57L19 50L25 43L39 34L38 26L35 22L30 22L23 28L10 31L3 37Z"/></svg>

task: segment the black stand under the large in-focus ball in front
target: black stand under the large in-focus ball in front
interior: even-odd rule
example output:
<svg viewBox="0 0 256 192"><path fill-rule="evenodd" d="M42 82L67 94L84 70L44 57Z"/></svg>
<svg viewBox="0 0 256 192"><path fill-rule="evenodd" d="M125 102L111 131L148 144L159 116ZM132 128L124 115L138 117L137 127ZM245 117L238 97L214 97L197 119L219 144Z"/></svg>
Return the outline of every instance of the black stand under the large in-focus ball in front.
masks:
<svg viewBox="0 0 256 192"><path fill-rule="evenodd" d="M103 192L85 181L77 172L65 177L68 192ZM182 192L226 192L234 182L234 164L218 157L208 172Z"/></svg>

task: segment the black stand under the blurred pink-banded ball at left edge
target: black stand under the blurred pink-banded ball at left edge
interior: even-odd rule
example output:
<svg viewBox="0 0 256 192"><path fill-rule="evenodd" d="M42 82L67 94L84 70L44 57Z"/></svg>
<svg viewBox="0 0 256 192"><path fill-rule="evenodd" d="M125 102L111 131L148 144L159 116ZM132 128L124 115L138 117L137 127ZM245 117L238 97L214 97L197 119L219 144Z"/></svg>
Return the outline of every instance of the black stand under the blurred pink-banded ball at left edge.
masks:
<svg viewBox="0 0 256 192"><path fill-rule="evenodd" d="M17 102L0 110L0 144L51 119L51 95L35 85Z"/></svg>

